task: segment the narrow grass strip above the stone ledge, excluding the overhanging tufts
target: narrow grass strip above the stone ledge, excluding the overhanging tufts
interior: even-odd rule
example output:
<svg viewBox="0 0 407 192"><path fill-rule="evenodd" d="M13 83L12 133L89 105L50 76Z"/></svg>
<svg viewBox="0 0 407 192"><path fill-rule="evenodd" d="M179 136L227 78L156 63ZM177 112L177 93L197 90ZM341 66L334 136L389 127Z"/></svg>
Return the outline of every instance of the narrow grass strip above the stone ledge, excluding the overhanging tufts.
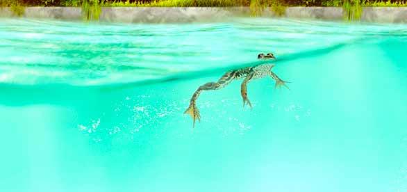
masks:
<svg viewBox="0 0 407 192"><path fill-rule="evenodd" d="M0 6L82 6L83 3L112 7L344 6L346 3L374 7L407 6L407 0L0 0Z"/></svg>

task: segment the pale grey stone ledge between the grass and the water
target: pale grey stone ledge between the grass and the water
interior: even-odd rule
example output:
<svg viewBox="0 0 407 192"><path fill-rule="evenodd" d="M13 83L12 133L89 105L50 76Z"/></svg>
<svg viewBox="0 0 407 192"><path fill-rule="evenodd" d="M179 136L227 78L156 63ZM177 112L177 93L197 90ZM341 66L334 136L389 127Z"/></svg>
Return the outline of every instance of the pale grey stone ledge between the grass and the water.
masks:
<svg viewBox="0 0 407 192"><path fill-rule="evenodd" d="M301 19L342 20L342 8L289 7L283 17ZM0 8L0 17L13 17L9 8ZM165 23L216 22L233 17L249 17L247 7L232 8L102 8L101 22ZM265 9L263 17L275 17ZM81 8L28 7L22 17L81 20ZM363 8L362 22L407 23L407 8Z"/></svg>

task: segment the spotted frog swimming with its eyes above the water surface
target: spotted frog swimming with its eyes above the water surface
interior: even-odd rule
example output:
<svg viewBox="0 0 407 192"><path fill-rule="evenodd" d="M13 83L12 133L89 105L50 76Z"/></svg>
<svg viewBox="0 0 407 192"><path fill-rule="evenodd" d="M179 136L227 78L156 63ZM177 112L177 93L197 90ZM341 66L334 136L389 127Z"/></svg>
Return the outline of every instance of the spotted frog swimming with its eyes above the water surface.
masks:
<svg viewBox="0 0 407 192"><path fill-rule="evenodd" d="M271 59L274 58L273 54L259 54L258 59ZM195 127L195 121L201 120L201 116L199 115L199 110L197 109L196 101L203 90L217 90L220 88L224 88L227 86L231 81L235 79L244 79L241 86L240 86L240 94L242 95L243 99L243 106L248 104L251 108L251 103L249 98L247 97L247 83L252 79L259 79L266 76L272 77L274 81L276 81L276 88L280 86L288 86L285 85L286 81L281 80L274 72L272 72L273 64L266 64L266 65L257 65L254 67L244 67L239 70L233 70L230 72L226 72L217 82L209 82L205 83L203 86L199 86L199 88L195 91L194 95L192 95L190 99L190 106L187 110L185 110L185 114L189 114L193 120L193 127Z"/></svg>

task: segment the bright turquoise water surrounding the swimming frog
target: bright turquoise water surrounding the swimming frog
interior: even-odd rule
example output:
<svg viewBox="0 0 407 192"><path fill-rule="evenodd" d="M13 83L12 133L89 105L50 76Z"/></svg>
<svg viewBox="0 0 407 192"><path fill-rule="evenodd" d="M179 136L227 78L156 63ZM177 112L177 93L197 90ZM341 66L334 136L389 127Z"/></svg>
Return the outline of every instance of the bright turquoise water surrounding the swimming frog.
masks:
<svg viewBox="0 0 407 192"><path fill-rule="evenodd" d="M406 24L0 19L0 189L407 191L406 50ZM192 129L194 90L263 63L290 90L204 92Z"/></svg>

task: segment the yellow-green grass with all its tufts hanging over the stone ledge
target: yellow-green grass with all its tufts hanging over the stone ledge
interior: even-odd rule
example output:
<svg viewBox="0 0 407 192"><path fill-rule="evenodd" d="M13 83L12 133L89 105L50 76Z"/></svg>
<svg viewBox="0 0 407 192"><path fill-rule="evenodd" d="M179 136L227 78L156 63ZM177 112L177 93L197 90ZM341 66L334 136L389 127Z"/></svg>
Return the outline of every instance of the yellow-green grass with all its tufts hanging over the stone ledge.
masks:
<svg viewBox="0 0 407 192"><path fill-rule="evenodd" d="M248 6L252 16L270 8L277 16L289 6L342 7L344 20L358 21L363 7L407 7L407 0L0 0L14 15L24 15L27 6L81 7L85 21L97 21L102 7L236 7Z"/></svg>

